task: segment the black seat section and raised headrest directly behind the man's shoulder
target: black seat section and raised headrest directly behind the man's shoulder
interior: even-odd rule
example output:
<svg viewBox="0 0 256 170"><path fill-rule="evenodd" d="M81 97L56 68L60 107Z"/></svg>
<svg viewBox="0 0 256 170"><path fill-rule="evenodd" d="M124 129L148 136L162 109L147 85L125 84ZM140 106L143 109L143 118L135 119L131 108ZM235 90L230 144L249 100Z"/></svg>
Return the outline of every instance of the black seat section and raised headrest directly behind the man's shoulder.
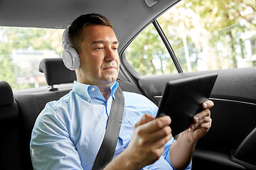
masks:
<svg viewBox="0 0 256 170"><path fill-rule="evenodd" d="M23 127L23 138L21 140L21 154L23 156L23 169L33 169L29 152L31 132L39 113L49 101L56 101L72 89L72 83L76 79L75 72L66 69L61 58L43 59L39 64L39 72L43 72L49 88L33 94L15 94L18 103L19 119ZM55 84L68 84L70 86L60 89Z"/></svg>

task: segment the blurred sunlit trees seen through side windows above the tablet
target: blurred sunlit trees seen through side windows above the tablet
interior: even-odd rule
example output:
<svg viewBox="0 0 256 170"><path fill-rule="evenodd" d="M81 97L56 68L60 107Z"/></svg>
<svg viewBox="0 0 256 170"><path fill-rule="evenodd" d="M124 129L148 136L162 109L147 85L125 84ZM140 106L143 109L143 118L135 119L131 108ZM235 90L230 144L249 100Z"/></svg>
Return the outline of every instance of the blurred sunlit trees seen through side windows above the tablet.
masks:
<svg viewBox="0 0 256 170"><path fill-rule="evenodd" d="M205 69L237 68L237 56L245 55L240 35L248 30L256 30L255 8L255 0L183 0L160 16L158 22L184 72L197 71L202 60L207 61ZM252 12L242 15L249 10ZM176 72L169 54L164 51L164 45L157 44L151 36L159 40L154 26L146 28L129 46L126 53L128 62L143 75L163 73L160 71ZM188 48L191 70L188 70L184 42ZM218 49L221 45L223 49L229 49L225 55ZM152 64L152 57L145 59L145 56L159 58L164 65L159 62Z"/></svg>

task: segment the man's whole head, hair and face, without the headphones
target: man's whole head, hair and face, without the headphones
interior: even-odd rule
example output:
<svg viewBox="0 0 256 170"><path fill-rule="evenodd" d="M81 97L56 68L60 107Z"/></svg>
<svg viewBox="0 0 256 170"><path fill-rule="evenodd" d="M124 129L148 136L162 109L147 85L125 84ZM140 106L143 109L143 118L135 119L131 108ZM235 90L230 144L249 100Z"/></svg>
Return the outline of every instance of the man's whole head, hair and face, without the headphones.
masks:
<svg viewBox="0 0 256 170"><path fill-rule="evenodd" d="M71 24L70 43L80 57L80 67L76 70L79 82L102 89L117 79L119 42L112 27L107 18L95 13L80 16Z"/></svg>

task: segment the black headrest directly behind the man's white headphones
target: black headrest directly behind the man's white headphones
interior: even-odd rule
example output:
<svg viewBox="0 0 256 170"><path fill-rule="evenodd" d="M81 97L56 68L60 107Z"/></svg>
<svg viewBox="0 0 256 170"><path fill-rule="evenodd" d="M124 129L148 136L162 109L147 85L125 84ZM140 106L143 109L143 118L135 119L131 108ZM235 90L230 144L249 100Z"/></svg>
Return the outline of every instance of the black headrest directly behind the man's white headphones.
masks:
<svg viewBox="0 0 256 170"><path fill-rule="evenodd" d="M73 83L76 80L75 71L67 69L62 58L43 59L39 64L39 72L45 75L49 86Z"/></svg>

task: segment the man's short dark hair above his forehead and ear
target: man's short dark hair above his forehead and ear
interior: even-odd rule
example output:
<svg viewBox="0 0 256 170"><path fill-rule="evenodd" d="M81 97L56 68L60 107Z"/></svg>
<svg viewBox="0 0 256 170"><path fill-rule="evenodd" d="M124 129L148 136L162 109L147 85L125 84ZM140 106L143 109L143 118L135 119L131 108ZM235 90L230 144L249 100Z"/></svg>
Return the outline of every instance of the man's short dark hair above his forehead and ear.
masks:
<svg viewBox="0 0 256 170"><path fill-rule="evenodd" d="M85 28L85 26L91 25L102 25L113 28L110 20L98 13L88 13L76 18L75 21L71 23L70 28L68 28L68 38L71 46L78 52L80 51L80 45L84 40L83 37L80 36L81 30L82 28Z"/></svg>

